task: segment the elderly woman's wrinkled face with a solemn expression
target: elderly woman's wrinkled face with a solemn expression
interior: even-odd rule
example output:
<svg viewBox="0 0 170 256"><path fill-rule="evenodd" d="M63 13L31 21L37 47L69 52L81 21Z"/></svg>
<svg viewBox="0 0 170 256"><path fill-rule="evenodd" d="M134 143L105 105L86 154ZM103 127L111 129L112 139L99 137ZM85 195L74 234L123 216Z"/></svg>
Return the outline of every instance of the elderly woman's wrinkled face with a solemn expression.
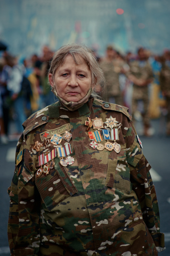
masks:
<svg viewBox="0 0 170 256"><path fill-rule="evenodd" d="M56 86L57 94L66 101L78 102L86 96L92 86L92 75L86 61L79 57L81 64L76 64L71 55L65 58L62 66L56 69L54 80L49 74L51 86Z"/></svg>

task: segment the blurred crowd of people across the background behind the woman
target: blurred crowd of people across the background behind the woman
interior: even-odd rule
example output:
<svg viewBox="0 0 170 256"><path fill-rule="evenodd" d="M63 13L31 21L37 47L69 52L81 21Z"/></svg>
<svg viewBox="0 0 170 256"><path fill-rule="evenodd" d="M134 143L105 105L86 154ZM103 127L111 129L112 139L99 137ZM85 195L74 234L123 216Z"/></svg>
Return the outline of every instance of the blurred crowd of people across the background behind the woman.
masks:
<svg viewBox="0 0 170 256"><path fill-rule="evenodd" d="M16 58L3 51L0 58L1 144L18 138L26 118L57 100L47 76L53 54L48 46L42 48L40 56L33 54L30 58ZM133 121L141 121L145 136L154 134L152 118L164 118L169 136L170 51L164 50L157 56L141 47L136 54L123 55L108 45L105 57L100 58L96 51L94 56L106 78L105 90L100 85L96 88L99 96L129 108Z"/></svg>

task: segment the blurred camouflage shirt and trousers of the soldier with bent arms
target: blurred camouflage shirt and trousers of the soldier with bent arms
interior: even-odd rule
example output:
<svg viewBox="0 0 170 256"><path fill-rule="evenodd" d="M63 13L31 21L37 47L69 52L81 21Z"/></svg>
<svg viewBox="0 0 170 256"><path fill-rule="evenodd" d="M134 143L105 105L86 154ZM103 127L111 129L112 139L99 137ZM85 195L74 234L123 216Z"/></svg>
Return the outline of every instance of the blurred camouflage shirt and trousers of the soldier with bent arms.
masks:
<svg viewBox="0 0 170 256"><path fill-rule="evenodd" d="M130 73L142 80L153 78L152 68L148 61L142 61L142 64L140 61L132 61L130 63ZM132 115L137 110L139 100L143 101L143 123L150 126L148 86L133 84Z"/></svg>

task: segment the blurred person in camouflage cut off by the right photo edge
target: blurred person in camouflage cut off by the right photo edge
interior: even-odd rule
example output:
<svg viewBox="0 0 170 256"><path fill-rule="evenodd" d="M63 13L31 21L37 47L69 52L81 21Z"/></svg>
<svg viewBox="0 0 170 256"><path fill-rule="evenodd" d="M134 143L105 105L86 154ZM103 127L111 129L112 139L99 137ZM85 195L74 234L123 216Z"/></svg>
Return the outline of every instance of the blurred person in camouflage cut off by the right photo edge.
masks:
<svg viewBox="0 0 170 256"><path fill-rule="evenodd" d="M166 61L163 63L160 73L161 91L167 103L167 135L170 136L170 51L166 54Z"/></svg>

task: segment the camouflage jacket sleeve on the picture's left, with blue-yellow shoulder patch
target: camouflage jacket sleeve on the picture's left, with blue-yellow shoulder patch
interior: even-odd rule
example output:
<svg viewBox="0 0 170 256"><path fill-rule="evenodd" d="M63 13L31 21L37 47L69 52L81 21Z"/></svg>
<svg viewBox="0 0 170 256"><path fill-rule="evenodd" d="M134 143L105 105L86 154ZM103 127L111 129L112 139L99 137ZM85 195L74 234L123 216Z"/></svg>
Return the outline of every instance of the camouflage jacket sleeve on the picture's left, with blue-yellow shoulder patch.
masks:
<svg viewBox="0 0 170 256"><path fill-rule="evenodd" d="M20 154L20 158L17 156ZM12 256L36 256L40 246L38 193L29 148L19 139L14 176L8 189L10 197L8 240ZM35 199L36 198L36 199ZM35 202L35 200L37 202Z"/></svg>

